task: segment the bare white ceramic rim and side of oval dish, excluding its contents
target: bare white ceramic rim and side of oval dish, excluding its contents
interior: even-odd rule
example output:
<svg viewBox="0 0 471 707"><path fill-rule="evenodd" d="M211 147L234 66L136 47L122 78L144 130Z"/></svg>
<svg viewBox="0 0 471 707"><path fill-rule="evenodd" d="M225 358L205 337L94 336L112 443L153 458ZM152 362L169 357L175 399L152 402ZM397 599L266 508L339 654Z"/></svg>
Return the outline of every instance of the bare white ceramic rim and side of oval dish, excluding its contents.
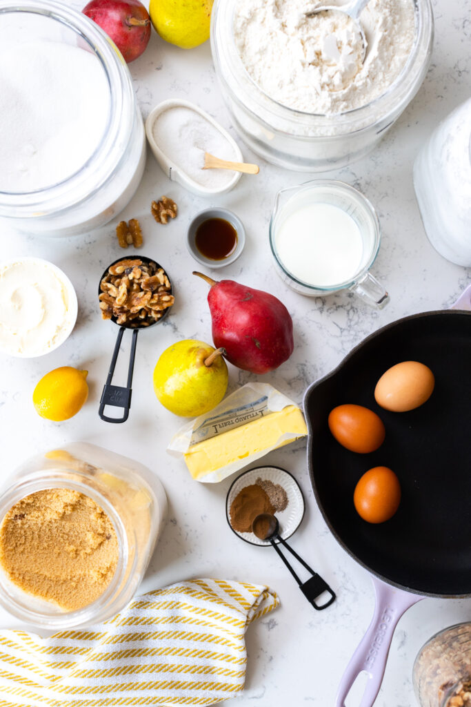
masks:
<svg viewBox="0 0 471 707"><path fill-rule="evenodd" d="M219 123L215 121L214 118L212 118L204 110L201 110L198 105L190 103L188 100L176 100L171 98L169 100L162 101L162 103L159 103L159 105L156 105L155 108L148 115L148 119L145 121L145 134L147 135L150 149L153 151L155 159L162 168L162 171L165 173L165 175L167 175L167 177L169 177L170 180L172 180L172 182L178 182L179 184L181 184L182 187L185 187L185 189L189 189L190 192L193 192L193 194L198 194L199 197L215 197L217 196L217 194L225 194L226 192L230 192L230 190L233 189L235 185L237 185L237 182L241 177L240 172L234 173L232 180L230 180L230 182L227 182L224 187L220 187L218 189L210 189L209 187L203 187L203 185L198 184L198 182L195 182L191 179L191 177L186 175L184 171L181 170L181 168L177 167L177 165L172 162L172 160L169 160L165 152L162 151L160 145L157 144L157 142L155 141L155 138L153 136L153 125L157 117L165 110L176 107L185 107L189 108L190 110L194 110L196 113L208 120L208 122L213 124L213 126L217 130L219 130L220 134L222 134L222 136L225 137L227 142L229 142L229 144L232 146L232 149L234 150L234 161L244 161L242 152L240 151L237 142L229 135L227 130L225 130Z"/></svg>

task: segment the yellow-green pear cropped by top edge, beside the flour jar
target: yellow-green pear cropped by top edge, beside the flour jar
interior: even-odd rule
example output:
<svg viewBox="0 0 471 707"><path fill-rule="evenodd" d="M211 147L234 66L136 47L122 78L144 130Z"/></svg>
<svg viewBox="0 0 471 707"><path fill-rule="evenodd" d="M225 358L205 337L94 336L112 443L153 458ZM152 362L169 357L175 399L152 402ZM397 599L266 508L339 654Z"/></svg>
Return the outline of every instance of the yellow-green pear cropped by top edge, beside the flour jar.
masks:
<svg viewBox="0 0 471 707"><path fill-rule="evenodd" d="M209 39L213 0L150 0L155 31L181 49L198 47Z"/></svg>

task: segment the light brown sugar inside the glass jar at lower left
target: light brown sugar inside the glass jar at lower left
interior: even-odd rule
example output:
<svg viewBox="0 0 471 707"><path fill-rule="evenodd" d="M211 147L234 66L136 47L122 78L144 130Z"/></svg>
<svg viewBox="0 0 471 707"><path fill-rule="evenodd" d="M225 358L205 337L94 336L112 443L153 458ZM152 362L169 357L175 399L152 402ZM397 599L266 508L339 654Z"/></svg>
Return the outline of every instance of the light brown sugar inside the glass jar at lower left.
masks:
<svg viewBox="0 0 471 707"><path fill-rule="evenodd" d="M0 527L0 564L10 580L67 611L100 597L118 554L105 511L71 489L31 493L8 511Z"/></svg>

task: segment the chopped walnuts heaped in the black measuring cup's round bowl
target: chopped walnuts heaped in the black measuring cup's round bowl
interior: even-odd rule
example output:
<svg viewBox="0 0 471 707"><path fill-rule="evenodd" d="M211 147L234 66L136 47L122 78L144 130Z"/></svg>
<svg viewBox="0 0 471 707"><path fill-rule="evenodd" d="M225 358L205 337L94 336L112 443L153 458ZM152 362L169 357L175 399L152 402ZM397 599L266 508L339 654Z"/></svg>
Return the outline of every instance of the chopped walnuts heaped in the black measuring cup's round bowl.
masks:
<svg viewBox="0 0 471 707"><path fill-rule="evenodd" d="M121 258L105 270L99 299L103 319L129 329L160 322L175 300L165 270L141 255Z"/></svg>

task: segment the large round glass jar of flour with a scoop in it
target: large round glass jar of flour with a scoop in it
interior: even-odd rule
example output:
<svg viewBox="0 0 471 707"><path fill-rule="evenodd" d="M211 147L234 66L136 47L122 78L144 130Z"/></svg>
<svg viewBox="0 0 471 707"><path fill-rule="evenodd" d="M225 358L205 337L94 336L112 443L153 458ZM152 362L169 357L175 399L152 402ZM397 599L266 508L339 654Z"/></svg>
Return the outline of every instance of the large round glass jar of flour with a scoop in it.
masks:
<svg viewBox="0 0 471 707"><path fill-rule="evenodd" d="M434 34L430 0L370 0L360 16L362 62L361 36L345 13L306 16L321 5L216 0L211 19L234 127L269 162L304 172L342 167L374 148L419 90Z"/></svg>

